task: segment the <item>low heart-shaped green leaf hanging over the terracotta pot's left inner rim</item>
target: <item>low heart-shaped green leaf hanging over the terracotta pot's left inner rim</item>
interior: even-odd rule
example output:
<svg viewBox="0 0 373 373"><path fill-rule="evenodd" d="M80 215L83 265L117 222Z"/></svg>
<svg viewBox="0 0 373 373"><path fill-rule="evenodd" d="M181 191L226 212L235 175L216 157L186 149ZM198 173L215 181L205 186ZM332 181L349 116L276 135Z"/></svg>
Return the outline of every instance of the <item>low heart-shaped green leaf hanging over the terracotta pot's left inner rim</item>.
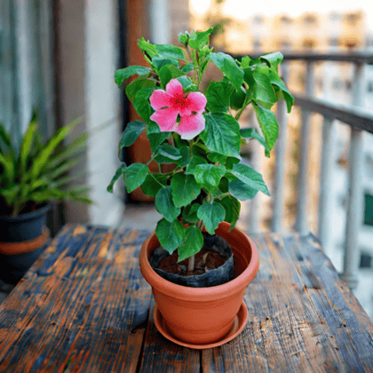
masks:
<svg viewBox="0 0 373 373"><path fill-rule="evenodd" d="M155 234L163 249L172 254L184 241L185 228L178 220L169 222L163 218L158 221Z"/></svg>

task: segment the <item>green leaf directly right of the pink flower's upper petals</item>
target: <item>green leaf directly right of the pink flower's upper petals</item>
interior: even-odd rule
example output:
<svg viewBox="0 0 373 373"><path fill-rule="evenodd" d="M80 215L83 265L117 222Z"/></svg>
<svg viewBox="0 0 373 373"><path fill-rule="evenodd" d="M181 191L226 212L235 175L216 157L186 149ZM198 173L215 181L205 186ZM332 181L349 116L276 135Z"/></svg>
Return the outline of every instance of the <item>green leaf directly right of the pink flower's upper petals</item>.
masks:
<svg viewBox="0 0 373 373"><path fill-rule="evenodd" d="M220 82L211 82L206 91L209 111L211 113L226 113L229 108L229 96L233 90L233 85L226 79Z"/></svg>

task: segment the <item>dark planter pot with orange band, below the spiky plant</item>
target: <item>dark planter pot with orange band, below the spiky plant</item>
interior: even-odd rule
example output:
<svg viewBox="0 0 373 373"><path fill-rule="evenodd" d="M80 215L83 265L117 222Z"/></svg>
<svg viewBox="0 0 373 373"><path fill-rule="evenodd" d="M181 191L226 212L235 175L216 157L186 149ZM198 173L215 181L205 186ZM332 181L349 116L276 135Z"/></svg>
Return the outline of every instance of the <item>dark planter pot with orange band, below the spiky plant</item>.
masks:
<svg viewBox="0 0 373 373"><path fill-rule="evenodd" d="M51 205L18 217L0 216L0 279L15 284L49 243L46 214ZM40 243L39 243L40 242ZM26 250L25 250L26 249Z"/></svg>

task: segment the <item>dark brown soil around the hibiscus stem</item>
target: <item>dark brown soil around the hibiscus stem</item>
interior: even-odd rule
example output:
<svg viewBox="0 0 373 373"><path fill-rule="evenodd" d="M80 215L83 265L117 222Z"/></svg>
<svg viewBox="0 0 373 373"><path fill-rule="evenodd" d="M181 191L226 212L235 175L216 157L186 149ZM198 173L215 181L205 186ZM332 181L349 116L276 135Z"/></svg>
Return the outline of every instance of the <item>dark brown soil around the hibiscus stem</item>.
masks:
<svg viewBox="0 0 373 373"><path fill-rule="evenodd" d="M202 248L202 250L194 256L194 271L188 272L188 259L178 263L178 258L178 251L174 251L172 255L161 260L158 268L169 274L190 276L194 274L204 274L226 263L226 257L218 254L218 252Z"/></svg>

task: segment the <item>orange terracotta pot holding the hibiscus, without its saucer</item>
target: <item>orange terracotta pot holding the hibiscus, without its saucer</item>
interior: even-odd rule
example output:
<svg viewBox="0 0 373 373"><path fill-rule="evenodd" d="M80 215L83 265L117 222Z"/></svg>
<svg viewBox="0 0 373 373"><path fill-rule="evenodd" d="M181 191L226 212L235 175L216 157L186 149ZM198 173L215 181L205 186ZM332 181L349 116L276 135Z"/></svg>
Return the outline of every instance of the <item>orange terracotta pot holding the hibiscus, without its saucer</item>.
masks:
<svg viewBox="0 0 373 373"><path fill-rule="evenodd" d="M224 338L234 326L243 295L258 273L258 250L237 228L222 222L216 234L234 251L234 280L210 288L188 288L156 274L148 258L159 247L155 232L143 243L139 254L141 274L152 286L163 324L173 337L187 344L206 345Z"/></svg>

